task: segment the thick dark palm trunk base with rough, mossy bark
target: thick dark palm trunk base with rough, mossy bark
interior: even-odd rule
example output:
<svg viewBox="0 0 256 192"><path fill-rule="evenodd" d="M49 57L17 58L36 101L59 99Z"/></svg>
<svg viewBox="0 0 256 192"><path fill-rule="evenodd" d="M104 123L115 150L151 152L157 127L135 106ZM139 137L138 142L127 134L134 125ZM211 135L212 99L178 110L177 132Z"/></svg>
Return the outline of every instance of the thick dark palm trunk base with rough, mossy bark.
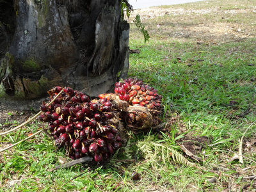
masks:
<svg viewBox="0 0 256 192"><path fill-rule="evenodd" d="M120 0L0 0L0 96L35 99L52 86L97 96L129 68Z"/></svg>

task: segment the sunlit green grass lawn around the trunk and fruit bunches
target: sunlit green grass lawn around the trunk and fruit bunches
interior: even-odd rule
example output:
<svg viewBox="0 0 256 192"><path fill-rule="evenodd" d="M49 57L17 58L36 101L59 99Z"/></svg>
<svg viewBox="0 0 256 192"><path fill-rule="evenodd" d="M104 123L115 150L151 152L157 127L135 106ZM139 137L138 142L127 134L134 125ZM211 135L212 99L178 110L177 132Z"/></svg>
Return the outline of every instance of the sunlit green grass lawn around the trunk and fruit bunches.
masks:
<svg viewBox="0 0 256 192"><path fill-rule="evenodd" d="M60 164L58 157L65 154L56 150L53 142L41 133L3 152L0 191L223 191L228 188L240 191L251 182L243 177L256 175L255 125L246 131L256 120L256 38L250 35L255 34L255 13L245 14L242 10L234 15L225 11L253 6L255 1L246 0L163 6L218 12L146 19L143 23L151 36L147 44L131 24L129 46L140 49L140 54L130 55L129 76L143 79L163 95L166 131L136 135L129 132L131 140L128 146L122 147L122 153L116 154L106 167L99 166L89 172L86 165L49 172ZM157 24L161 26L159 29ZM228 35L225 30L218 33L206 30L227 25L230 25ZM238 28L245 32L236 32ZM233 101L236 103L232 104ZM243 115L249 105L249 113ZM172 120L175 122L171 123ZM9 123L17 122L6 122ZM26 138L38 127L35 122L10 136L1 136L1 148ZM168 148L182 154L180 145L202 136L209 142L201 143L202 149L196 156L204 161L198 163L185 156L200 168L172 160ZM229 162L234 152L238 152L242 136L244 163ZM148 150L143 150L144 145ZM225 170L220 171L216 166ZM139 173L141 179L131 180L133 172ZM80 173L84 174L68 182ZM207 182L212 177L218 181Z"/></svg>

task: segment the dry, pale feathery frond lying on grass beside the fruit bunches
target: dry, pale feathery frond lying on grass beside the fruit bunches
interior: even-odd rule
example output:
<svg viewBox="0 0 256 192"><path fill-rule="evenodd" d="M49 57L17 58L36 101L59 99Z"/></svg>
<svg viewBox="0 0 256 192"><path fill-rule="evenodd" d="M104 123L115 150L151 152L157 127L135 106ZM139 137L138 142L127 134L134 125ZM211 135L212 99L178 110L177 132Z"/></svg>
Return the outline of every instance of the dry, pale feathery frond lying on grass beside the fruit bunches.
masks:
<svg viewBox="0 0 256 192"><path fill-rule="evenodd" d="M168 146L166 143L157 143L156 141L138 141L138 150L143 154L143 157L149 162L162 161L164 164L173 163L185 164L189 167L198 168L195 163L191 163L182 154L180 154L175 148Z"/></svg>

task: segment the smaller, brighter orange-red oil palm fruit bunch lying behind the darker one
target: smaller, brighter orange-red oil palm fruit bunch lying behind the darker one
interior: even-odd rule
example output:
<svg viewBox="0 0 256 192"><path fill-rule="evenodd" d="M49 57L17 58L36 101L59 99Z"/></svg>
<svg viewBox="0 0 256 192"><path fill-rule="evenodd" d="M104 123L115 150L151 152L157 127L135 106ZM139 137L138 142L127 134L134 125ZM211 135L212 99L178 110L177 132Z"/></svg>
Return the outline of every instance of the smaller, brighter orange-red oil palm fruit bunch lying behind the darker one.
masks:
<svg viewBox="0 0 256 192"><path fill-rule="evenodd" d="M120 100L125 100L130 105L125 122L132 131L154 128L161 122L159 115L163 110L162 95L141 79L135 77L116 82L115 93Z"/></svg>

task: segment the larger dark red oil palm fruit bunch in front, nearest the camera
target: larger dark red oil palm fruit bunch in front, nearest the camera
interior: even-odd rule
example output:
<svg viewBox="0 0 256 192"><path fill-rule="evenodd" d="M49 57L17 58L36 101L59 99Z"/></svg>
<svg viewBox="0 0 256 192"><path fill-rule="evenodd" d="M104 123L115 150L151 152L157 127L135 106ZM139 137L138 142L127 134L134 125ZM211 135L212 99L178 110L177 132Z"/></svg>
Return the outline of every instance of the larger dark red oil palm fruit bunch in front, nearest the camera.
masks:
<svg viewBox="0 0 256 192"><path fill-rule="evenodd" d="M58 148L65 147L72 159L91 156L95 162L104 161L122 146L118 121L110 100L90 100L87 95L66 87L56 86L48 91L51 105L42 102L40 120L47 122L47 131ZM114 112L113 112L114 111Z"/></svg>

